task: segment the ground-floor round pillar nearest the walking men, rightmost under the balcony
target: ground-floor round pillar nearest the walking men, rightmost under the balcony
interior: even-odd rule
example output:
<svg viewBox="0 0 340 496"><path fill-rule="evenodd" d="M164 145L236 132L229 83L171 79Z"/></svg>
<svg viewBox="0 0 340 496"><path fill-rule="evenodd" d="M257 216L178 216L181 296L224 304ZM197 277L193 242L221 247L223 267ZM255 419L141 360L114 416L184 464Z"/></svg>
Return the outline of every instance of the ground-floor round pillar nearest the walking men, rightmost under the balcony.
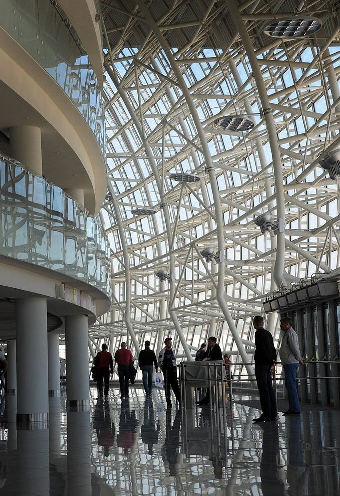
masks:
<svg viewBox="0 0 340 496"><path fill-rule="evenodd" d="M65 317L65 343L67 404L72 408L89 408L89 348L86 315Z"/></svg>

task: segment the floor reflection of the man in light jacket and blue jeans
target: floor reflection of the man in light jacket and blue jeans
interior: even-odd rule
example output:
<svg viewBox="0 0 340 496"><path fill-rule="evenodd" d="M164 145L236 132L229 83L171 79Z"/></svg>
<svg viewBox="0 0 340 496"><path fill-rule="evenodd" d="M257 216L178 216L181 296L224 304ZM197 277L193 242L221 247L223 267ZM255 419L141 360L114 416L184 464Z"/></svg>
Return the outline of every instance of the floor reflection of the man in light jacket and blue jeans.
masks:
<svg viewBox="0 0 340 496"><path fill-rule="evenodd" d="M286 419L288 432L287 482L289 496L308 495L308 478L311 467L306 466L301 450L301 421L299 417Z"/></svg>

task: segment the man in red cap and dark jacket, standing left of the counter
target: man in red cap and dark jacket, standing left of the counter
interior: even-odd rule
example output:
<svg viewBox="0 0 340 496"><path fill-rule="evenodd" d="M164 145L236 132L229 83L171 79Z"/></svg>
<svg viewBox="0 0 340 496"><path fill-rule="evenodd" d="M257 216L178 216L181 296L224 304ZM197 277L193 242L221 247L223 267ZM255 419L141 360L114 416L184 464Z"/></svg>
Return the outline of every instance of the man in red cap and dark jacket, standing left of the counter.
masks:
<svg viewBox="0 0 340 496"><path fill-rule="evenodd" d="M172 387L172 391L176 396L176 400L180 405L180 392L179 385L177 379L177 365L176 365L176 357L172 351L172 338L166 338L164 340L165 347L160 351L158 357L158 364L160 369L163 372L164 377L164 389L166 393L166 402L168 406L172 406L171 404L171 393L170 386Z"/></svg>

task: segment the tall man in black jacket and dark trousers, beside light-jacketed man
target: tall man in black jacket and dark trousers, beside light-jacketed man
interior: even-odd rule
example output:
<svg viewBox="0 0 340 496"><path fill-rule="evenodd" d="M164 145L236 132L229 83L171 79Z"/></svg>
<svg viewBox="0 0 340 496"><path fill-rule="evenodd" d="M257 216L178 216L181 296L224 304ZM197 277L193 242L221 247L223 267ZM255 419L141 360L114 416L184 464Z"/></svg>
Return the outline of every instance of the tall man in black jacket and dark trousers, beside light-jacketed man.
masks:
<svg viewBox="0 0 340 496"><path fill-rule="evenodd" d="M273 336L263 327L263 318L256 315L253 320L255 331L255 377L260 394L262 414L253 422L269 422L277 419L272 371L276 364L276 350Z"/></svg>

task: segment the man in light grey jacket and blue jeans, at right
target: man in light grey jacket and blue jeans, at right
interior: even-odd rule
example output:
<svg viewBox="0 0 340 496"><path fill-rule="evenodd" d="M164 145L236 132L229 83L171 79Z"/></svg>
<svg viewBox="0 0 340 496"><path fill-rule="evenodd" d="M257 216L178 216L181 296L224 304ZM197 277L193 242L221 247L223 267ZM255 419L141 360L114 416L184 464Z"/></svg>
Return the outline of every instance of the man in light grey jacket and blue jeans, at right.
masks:
<svg viewBox="0 0 340 496"><path fill-rule="evenodd" d="M284 415L300 415L296 378L299 364L305 365L305 361L301 357L298 335L292 327L292 319L290 317L284 317L280 321L280 327L284 333L281 340L280 359L283 370L285 371L285 386L289 404L288 410L283 413Z"/></svg>

